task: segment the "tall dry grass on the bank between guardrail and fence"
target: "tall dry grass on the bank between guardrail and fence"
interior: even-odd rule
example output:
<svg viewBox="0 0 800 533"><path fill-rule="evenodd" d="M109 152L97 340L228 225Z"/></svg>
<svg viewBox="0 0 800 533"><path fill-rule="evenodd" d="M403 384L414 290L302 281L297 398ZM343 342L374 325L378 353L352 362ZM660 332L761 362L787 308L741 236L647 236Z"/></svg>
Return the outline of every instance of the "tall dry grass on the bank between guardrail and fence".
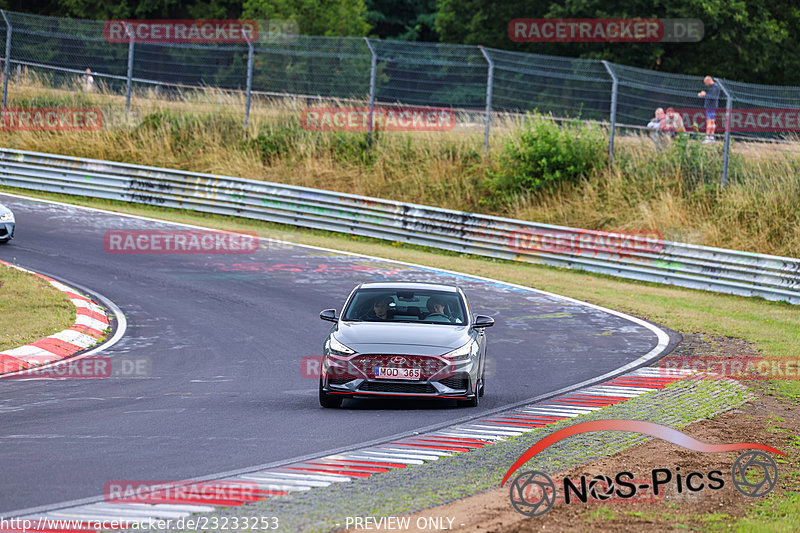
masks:
<svg viewBox="0 0 800 533"><path fill-rule="evenodd" d="M703 179L698 177L702 169L658 154L646 137L620 136L613 167L547 194L498 204L485 201L493 194L486 177L500 165L504 144L515 138L513 118L494 122L492 149L484 157L479 124L462 124L449 132L381 133L371 147L363 134L318 133L299 127L299 113L306 105L352 106L353 102L255 99L245 139L243 97L218 90L169 97L153 89L140 90L132 99L130 118L124 114L124 96L86 94L79 87L53 89L30 75L18 86L12 83L9 93L11 106L52 101L52 105L100 107L108 127L80 133L8 132L7 147L269 180L582 228L657 229L670 240L800 256L800 143L777 147L737 143L731 183L720 189L715 170L706 171L711 177ZM180 120L142 126L154 114ZM700 150L719 150L719 146Z"/></svg>

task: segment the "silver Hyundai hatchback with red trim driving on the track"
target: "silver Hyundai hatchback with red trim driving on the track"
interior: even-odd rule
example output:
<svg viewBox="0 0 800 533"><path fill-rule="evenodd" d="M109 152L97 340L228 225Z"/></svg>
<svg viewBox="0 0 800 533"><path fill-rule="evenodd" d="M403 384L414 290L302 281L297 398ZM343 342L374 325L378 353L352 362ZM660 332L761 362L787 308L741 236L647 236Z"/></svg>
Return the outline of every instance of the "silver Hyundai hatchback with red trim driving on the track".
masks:
<svg viewBox="0 0 800 533"><path fill-rule="evenodd" d="M475 407L483 396L484 329L464 292L433 283L362 283L333 322L323 346L319 402L339 407L344 398L451 398Z"/></svg>

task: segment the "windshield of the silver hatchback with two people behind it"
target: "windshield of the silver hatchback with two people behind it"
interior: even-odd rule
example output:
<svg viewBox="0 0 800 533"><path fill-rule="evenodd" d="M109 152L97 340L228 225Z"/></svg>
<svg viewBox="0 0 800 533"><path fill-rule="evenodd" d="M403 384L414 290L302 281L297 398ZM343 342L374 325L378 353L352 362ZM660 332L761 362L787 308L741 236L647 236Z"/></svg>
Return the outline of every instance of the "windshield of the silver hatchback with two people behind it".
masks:
<svg viewBox="0 0 800 533"><path fill-rule="evenodd" d="M407 289L360 289L344 320L466 324L467 312L457 292Z"/></svg>

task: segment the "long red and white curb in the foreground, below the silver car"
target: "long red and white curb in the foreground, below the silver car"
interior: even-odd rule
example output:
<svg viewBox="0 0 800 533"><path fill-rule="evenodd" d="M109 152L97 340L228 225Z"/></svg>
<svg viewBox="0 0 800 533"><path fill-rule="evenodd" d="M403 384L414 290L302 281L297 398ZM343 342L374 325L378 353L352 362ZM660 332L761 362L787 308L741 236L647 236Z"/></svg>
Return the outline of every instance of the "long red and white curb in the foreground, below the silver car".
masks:
<svg viewBox="0 0 800 533"><path fill-rule="evenodd" d="M97 531L98 524L103 525L102 529L144 528L155 521L176 520L193 513L212 512L218 507L241 506L271 496L308 491L333 483L347 483L409 465L422 465L442 457L467 453L561 420L655 392L691 375L694 373L689 370L670 370L669 375L665 376L661 368L640 368L543 402L430 433L225 478L225 484L242 483L257 487L257 490L239 497L227 495L209 499L206 495L188 492L180 498L162 499L153 504L93 502L46 513L28 514L20 516L19 520L28 520L33 525L33 529L29 526L28 531L40 532L57 529L37 529L36 524L64 524L65 521L72 523L69 531L80 533ZM126 521L126 524L116 526L114 521ZM63 528L58 530L62 531Z"/></svg>

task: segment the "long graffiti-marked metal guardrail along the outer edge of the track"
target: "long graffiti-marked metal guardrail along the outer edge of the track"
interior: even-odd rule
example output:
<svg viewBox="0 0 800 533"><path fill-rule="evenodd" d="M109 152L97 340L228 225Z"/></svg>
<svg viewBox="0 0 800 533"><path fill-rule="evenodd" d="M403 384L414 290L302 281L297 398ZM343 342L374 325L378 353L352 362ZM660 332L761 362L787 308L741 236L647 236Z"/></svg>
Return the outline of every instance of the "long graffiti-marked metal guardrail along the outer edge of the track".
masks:
<svg viewBox="0 0 800 533"><path fill-rule="evenodd" d="M234 215L800 304L800 259L0 148L0 185Z"/></svg>

